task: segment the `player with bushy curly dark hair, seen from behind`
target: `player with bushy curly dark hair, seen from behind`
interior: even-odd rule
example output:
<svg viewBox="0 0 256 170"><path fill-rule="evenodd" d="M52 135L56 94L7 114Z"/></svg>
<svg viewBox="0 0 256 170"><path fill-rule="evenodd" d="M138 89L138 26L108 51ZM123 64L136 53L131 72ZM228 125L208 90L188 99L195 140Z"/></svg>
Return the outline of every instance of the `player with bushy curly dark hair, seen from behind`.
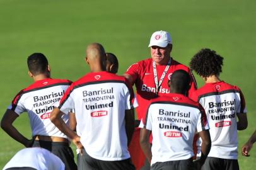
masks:
<svg viewBox="0 0 256 170"><path fill-rule="evenodd" d="M192 94L192 99L204 107L210 126L212 147L202 167L207 170L239 169L237 130L247 128L245 99L240 88L221 81L222 65L223 57L209 48L197 52L190 61L191 69L205 82ZM199 139L199 150L200 142Z"/></svg>

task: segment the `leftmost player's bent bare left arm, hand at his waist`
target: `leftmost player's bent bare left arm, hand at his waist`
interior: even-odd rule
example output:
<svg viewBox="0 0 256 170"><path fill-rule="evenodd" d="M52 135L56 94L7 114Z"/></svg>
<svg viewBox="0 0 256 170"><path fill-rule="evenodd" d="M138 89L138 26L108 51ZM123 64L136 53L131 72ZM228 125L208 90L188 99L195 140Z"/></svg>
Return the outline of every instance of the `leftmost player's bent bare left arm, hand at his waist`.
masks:
<svg viewBox="0 0 256 170"><path fill-rule="evenodd" d="M15 111L6 110L1 120L1 128L3 128L10 137L25 145L25 147L31 147L33 139L27 139L13 126L13 122L15 122L16 118L18 118L18 114L16 114Z"/></svg>

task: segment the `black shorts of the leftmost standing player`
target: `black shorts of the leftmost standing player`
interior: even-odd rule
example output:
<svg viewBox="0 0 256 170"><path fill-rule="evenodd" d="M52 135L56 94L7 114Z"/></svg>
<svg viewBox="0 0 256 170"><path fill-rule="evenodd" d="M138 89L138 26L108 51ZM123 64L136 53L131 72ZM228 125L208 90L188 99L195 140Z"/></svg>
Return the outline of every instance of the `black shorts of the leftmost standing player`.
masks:
<svg viewBox="0 0 256 170"><path fill-rule="evenodd" d="M76 170L76 162L74 162L74 154L66 142L49 142L44 140L35 140L32 147L42 147L49 150L55 156L59 157L65 164L65 170Z"/></svg>

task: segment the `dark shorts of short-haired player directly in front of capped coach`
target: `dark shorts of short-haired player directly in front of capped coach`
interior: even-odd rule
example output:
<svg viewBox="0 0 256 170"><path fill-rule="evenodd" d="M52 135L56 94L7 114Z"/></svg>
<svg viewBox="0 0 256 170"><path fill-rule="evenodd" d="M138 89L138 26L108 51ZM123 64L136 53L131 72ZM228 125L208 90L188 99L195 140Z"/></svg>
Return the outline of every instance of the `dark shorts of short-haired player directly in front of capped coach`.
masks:
<svg viewBox="0 0 256 170"><path fill-rule="evenodd" d="M151 166L150 170L194 170L192 158L180 161L156 162Z"/></svg>

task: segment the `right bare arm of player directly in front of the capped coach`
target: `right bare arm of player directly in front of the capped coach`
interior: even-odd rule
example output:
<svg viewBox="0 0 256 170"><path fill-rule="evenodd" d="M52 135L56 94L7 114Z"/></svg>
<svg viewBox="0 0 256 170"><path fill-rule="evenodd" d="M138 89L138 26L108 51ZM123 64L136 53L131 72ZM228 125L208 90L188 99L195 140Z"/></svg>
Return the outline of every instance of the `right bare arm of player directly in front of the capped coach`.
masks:
<svg viewBox="0 0 256 170"><path fill-rule="evenodd" d="M211 150L211 136L209 133L209 130L202 130L199 132L199 136L202 139L202 145L201 145L201 158L197 161L197 164L201 167L204 164L204 161L206 161L206 158Z"/></svg>

